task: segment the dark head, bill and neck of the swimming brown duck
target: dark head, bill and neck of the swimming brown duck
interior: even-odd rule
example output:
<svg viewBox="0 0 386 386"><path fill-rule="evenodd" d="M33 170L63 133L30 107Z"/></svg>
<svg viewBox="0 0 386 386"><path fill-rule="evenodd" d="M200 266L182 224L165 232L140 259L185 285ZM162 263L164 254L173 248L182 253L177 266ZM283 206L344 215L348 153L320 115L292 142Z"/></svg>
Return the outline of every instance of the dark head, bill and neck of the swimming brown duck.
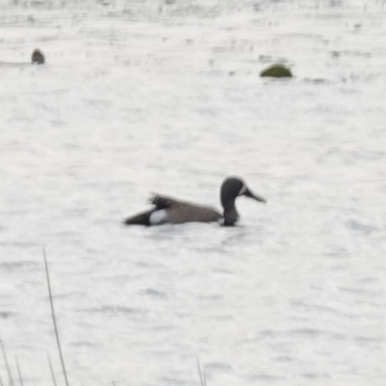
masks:
<svg viewBox="0 0 386 386"><path fill-rule="evenodd" d="M253 198L260 203L266 203L267 200L253 193L248 186L238 177L228 177L221 185L220 199L221 205L224 208L224 223L225 226L233 226L238 220L238 213L235 207L235 200L240 195Z"/></svg>

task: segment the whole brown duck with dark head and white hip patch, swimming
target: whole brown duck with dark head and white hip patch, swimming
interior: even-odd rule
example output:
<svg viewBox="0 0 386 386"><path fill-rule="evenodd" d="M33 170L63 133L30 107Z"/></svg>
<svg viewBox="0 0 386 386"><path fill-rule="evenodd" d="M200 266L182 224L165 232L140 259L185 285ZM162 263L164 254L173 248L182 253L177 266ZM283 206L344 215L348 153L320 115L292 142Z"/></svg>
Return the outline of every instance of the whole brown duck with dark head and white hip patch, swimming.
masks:
<svg viewBox="0 0 386 386"><path fill-rule="evenodd" d="M239 219L235 200L241 195L260 203L267 202L262 196L253 193L241 178L227 177L220 187L220 201L223 206L223 213L211 206L178 200L167 195L154 194L150 199L153 208L126 218L123 220L123 224L153 226L216 222L224 226L234 226Z"/></svg>

